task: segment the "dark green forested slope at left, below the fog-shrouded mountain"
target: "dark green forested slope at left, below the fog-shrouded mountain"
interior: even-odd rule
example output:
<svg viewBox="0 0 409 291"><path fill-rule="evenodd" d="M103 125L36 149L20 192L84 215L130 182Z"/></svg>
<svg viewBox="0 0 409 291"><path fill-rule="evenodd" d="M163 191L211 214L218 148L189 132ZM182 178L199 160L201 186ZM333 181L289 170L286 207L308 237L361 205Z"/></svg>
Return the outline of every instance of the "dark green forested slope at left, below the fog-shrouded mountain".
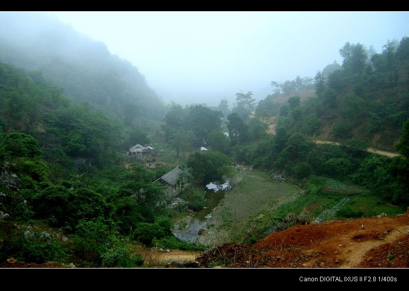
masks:
<svg viewBox="0 0 409 291"><path fill-rule="evenodd" d="M0 64L0 261L137 266L129 241L197 248L170 231L161 170L119 165L139 133L62 92Z"/></svg>

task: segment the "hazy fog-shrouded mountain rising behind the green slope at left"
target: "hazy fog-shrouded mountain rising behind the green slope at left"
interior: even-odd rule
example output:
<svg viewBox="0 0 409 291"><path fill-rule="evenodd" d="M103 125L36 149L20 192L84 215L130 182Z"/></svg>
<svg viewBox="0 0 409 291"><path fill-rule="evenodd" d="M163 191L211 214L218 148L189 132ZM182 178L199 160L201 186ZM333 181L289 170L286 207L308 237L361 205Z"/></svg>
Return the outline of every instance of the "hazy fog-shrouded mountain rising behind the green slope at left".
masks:
<svg viewBox="0 0 409 291"><path fill-rule="evenodd" d="M145 77L106 45L43 13L0 13L0 61L40 70L76 101L89 101L124 118L162 115Z"/></svg>

